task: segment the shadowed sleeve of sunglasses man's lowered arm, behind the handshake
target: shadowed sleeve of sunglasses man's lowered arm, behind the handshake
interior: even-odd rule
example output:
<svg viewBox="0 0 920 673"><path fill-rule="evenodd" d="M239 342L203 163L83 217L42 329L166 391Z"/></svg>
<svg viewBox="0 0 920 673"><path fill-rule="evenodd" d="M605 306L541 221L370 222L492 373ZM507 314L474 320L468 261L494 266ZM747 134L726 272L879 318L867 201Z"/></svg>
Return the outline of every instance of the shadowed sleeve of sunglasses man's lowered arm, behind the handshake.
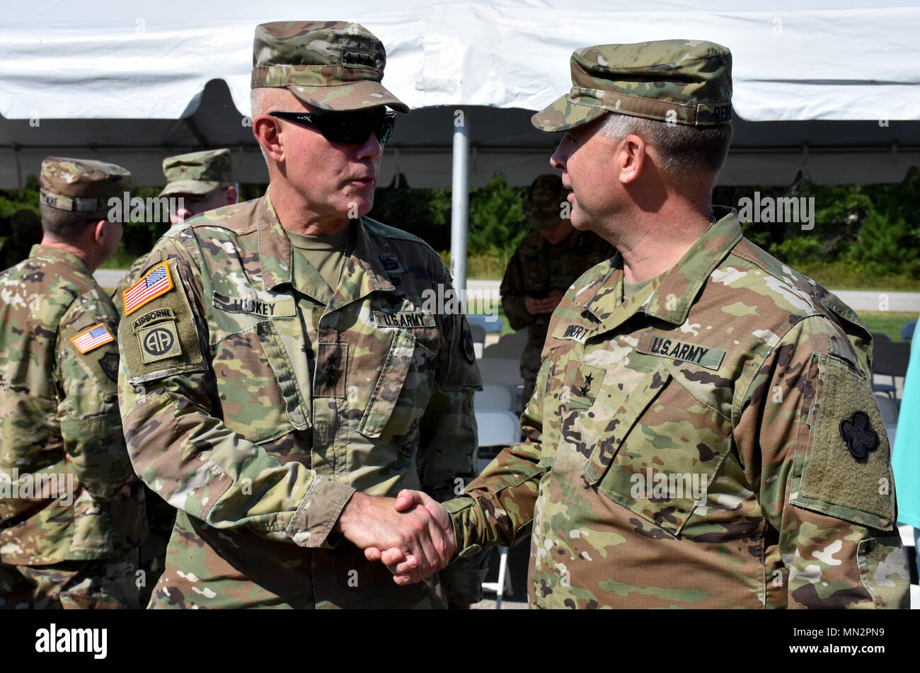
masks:
<svg viewBox="0 0 920 673"><path fill-rule="evenodd" d="M446 276L441 279L449 287ZM482 380L473 338L463 314L441 316L444 346L439 352L434 391L420 421L419 476L422 490L439 502L460 492L475 475L477 426L473 394ZM482 599L489 554L455 559L439 574L448 603L471 605Z"/></svg>

